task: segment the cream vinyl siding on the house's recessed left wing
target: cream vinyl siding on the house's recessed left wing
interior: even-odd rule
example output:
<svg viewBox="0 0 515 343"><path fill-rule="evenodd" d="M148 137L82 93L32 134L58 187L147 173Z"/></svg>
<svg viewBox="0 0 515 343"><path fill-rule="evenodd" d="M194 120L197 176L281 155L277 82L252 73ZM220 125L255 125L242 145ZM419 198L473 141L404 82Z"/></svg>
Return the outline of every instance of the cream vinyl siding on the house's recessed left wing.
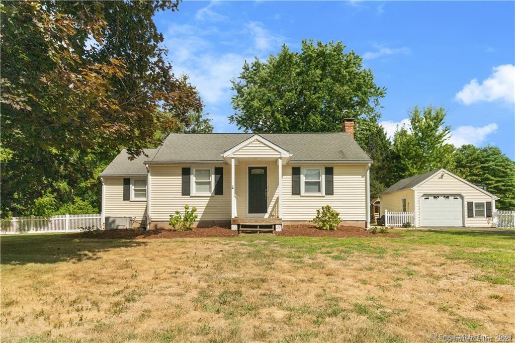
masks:
<svg viewBox="0 0 515 343"><path fill-rule="evenodd" d="M127 176L129 178L129 176ZM145 179L146 176L130 177L131 179ZM104 177L105 200L104 211L106 217L135 217L138 223L134 226L146 225L147 201L124 201L124 178ZM141 223L141 224L140 224Z"/></svg>

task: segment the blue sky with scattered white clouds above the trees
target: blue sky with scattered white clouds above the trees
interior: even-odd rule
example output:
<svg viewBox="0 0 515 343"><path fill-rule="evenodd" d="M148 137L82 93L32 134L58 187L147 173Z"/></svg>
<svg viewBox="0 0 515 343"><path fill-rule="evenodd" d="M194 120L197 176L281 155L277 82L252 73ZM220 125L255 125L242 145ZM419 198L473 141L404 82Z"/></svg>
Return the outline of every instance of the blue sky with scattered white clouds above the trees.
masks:
<svg viewBox="0 0 515 343"><path fill-rule="evenodd" d="M302 39L342 41L387 88L390 134L415 105L444 106L452 143L494 144L515 159L515 2L185 1L155 22L215 132L237 131L230 80L245 60Z"/></svg>

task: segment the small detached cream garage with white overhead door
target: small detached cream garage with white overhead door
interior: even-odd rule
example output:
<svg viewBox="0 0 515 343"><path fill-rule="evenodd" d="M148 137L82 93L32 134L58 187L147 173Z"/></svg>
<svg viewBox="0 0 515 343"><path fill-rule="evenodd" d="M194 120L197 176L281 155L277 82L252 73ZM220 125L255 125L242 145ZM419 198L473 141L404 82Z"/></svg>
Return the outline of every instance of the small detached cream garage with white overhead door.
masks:
<svg viewBox="0 0 515 343"><path fill-rule="evenodd" d="M499 198L442 168L402 179L380 199L381 216L414 212L416 227L491 227Z"/></svg>

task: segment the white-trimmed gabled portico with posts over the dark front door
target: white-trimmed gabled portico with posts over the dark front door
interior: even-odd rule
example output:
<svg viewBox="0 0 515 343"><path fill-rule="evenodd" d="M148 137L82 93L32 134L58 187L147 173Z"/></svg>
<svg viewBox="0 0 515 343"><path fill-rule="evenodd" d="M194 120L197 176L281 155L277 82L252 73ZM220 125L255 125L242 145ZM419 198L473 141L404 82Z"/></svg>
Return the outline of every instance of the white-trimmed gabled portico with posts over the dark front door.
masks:
<svg viewBox="0 0 515 343"><path fill-rule="evenodd" d="M255 224L253 219L267 219L276 230L282 217L282 166L291 154L285 149L254 134L225 151L222 157L231 165L231 228ZM248 222L245 219L248 218Z"/></svg>

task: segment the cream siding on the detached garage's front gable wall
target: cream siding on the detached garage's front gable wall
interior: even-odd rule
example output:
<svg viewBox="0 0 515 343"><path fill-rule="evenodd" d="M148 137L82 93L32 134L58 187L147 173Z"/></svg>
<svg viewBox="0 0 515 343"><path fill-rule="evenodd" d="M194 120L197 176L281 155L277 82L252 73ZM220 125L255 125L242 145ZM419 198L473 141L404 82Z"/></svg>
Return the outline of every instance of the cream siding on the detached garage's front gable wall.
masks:
<svg viewBox="0 0 515 343"><path fill-rule="evenodd" d="M455 177L446 173L437 173L430 179L417 187L418 196L424 194L461 194L463 197L465 226L469 227L490 227L492 226L492 218L486 217L467 217L467 202L468 201L488 201L493 199L491 196L477 190L476 188L466 184L465 182L456 179ZM383 199L381 198L381 201ZM420 199L419 199L420 202ZM381 203L383 204L383 203ZM492 212L494 205L492 203ZM388 209L389 210L389 209ZM420 207L417 213L418 224L420 225Z"/></svg>

